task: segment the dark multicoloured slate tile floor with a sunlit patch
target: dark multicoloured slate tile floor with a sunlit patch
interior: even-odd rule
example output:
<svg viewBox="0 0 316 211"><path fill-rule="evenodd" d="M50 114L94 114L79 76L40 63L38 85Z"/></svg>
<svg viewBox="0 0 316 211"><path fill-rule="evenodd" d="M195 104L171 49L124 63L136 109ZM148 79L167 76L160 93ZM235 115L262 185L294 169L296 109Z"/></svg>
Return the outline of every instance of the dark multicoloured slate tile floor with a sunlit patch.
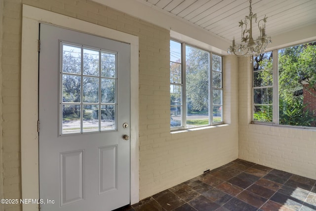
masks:
<svg viewBox="0 0 316 211"><path fill-rule="evenodd" d="M316 211L316 180L237 159L116 211Z"/></svg>

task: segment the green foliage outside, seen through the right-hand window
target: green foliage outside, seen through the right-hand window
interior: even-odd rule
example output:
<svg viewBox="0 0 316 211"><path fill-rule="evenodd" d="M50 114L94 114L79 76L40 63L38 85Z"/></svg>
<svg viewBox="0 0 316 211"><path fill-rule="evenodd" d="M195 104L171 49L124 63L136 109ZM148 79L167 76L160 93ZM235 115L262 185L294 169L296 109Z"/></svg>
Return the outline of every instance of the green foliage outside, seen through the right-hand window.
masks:
<svg viewBox="0 0 316 211"><path fill-rule="evenodd" d="M271 85L272 73L272 54L270 59L265 54L255 58L254 86ZM311 126L315 118L303 103L303 89L316 90L316 42L278 50L279 124ZM271 121L272 116L262 111L254 113L254 120Z"/></svg>

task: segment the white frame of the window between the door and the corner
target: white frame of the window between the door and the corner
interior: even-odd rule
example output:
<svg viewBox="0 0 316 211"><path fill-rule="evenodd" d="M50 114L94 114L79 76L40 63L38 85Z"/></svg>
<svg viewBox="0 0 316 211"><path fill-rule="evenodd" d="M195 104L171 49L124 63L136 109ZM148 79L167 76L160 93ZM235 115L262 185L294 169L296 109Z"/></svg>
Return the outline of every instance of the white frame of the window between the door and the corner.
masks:
<svg viewBox="0 0 316 211"><path fill-rule="evenodd" d="M170 38L169 42L178 42L181 44L181 83L170 83L170 94L171 94L171 85L181 85L181 126L178 127L171 127L170 125L170 130L175 131L175 130L183 130L183 129L192 129L192 128L199 128L199 127L209 127L209 126L215 126L215 125L222 125L224 124L224 118L223 118L223 107L224 107L224 87L223 87L223 55L213 53L212 51L209 51L207 49L203 49L201 47L192 45L187 42L179 41L174 38ZM196 126L196 127L187 127L187 96L186 96L186 46L197 48L199 50L206 51L209 53L209 68L208 68L208 120L209 124L208 125L203 125L203 126ZM171 49L170 49L171 51ZM221 73L221 87L213 87L213 64L212 64L212 57L213 55L220 56L221 57L221 67L220 67L220 73ZM170 59L171 63L171 59ZM217 71L219 72L219 71ZM169 78L171 75L169 76ZM214 107L214 102L213 102L213 89L216 90L221 90L221 121L220 122L215 122L213 121L213 107ZM171 95L170 95L171 96ZM218 105L215 105L218 106ZM170 111L172 107L176 107L176 105L171 105L170 104ZM211 116L212 115L212 116ZM171 113L170 113L170 121L171 121Z"/></svg>

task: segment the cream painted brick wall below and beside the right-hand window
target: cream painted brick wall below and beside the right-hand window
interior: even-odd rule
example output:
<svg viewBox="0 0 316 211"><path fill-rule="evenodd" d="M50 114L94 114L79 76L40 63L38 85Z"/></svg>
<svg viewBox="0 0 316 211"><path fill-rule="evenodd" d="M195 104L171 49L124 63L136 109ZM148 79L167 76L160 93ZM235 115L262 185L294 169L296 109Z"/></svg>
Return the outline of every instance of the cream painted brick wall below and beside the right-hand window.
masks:
<svg viewBox="0 0 316 211"><path fill-rule="evenodd" d="M316 179L316 130L250 124L251 67L239 58L240 159Z"/></svg>

